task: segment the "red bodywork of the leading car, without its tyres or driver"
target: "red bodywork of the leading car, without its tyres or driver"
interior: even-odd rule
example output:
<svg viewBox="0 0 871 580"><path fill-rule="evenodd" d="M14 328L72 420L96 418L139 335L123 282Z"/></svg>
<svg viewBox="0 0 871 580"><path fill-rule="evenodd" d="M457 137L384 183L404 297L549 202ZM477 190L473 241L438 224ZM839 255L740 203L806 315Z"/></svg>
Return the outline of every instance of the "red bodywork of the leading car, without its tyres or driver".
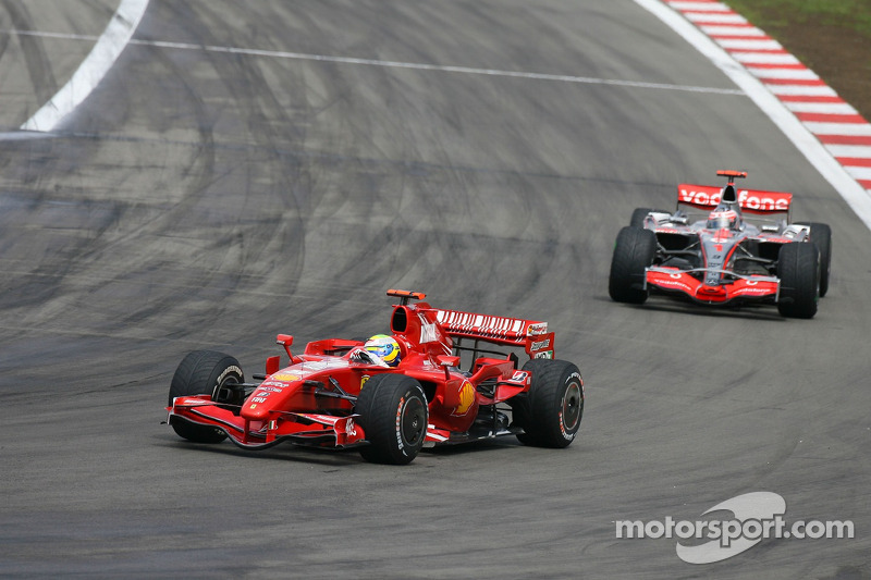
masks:
<svg viewBox="0 0 871 580"><path fill-rule="evenodd" d="M246 385L253 391L241 405L218 403L211 395L176 397L167 409L169 421L216 427L246 448L282 441L323 447L360 445L366 443L366 433L355 421L354 403L361 386L375 374L402 373L416 379L427 395L426 442L468 441L479 408L529 391L531 378L517 369L515 355L490 356L479 349L480 343L523 348L530 358L553 358L554 335L547 322L438 309L424 301L408 304L409 298L425 298L418 293L388 294L402 298L402 304L393 306L390 323L402 350L395 368L361 358L364 343L359 341L315 341L295 355L293 337L279 335L290 365L280 368L279 357L267 359L263 381ZM455 355L463 341L474 343L462 348L473 353L474 366L466 372L457 368L461 357ZM491 435L501 434L495 431Z"/></svg>

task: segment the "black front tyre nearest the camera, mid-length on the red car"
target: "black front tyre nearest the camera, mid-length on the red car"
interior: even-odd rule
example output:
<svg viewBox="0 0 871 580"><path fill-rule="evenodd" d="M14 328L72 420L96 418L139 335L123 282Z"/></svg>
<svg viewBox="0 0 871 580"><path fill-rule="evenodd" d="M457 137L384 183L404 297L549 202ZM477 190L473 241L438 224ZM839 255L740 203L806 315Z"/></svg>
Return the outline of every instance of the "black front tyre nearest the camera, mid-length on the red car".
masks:
<svg viewBox="0 0 871 580"><path fill-rule="evenodd" d="M360 455L373 464L410 464L427 437L429 409L420 383L404 374L377 374L366 381L354 412L369 445Z"/></svg>

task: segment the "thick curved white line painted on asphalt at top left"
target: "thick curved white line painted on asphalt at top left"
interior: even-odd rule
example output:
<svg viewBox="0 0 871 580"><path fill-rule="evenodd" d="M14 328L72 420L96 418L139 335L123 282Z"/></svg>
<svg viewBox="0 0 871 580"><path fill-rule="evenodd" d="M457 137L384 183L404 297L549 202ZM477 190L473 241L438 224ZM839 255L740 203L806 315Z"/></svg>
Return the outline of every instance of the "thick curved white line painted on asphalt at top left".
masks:
<svg viewBox="0 0 871 580"><path fill-rule="evenodd" d="M50 132L100 84L139 25L148 0L121 0L109 26L70 81L28 119L24 131Z"/></svg>

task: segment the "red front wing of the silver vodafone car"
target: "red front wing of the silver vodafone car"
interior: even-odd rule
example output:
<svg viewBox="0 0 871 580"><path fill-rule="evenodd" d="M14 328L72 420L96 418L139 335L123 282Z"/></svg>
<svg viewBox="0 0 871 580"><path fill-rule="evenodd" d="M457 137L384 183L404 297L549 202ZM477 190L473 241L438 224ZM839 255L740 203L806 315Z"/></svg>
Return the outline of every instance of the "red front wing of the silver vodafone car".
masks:
<svg viewBox="0 0 871 580"><path fill-rule="evenodd" d="M692 276L689 270L677 268L650 267L645 272L645 286L668 293L684 294L702 304L726 304L733 300L755 300L776 303L780 297L781 281L774 276L738 275L728 284L709 286Z"/></svg>

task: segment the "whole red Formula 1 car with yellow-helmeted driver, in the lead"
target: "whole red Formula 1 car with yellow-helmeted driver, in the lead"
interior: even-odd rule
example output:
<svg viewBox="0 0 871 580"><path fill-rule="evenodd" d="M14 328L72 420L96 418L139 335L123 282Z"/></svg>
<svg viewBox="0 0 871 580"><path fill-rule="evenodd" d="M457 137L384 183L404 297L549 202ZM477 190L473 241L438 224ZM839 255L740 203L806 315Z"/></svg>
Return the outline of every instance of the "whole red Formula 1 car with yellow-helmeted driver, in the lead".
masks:
<svg viewBox="0 0 871 580"><path fill-rule="evenodd" d="M410 462L424 446L514 434L566 447L584 412L578 368L553 359L547 322L432 308L420 293L400 298L390 335L329 338L279 356L245 382L221 353L188 354L172 378L169 424L182 437L262 449L281 442L359 447L373 462ZM529 360L518 367L517 351ZM464 365L467 361L467 365ZM466 370L461 370L465 368Z"/></svg>

